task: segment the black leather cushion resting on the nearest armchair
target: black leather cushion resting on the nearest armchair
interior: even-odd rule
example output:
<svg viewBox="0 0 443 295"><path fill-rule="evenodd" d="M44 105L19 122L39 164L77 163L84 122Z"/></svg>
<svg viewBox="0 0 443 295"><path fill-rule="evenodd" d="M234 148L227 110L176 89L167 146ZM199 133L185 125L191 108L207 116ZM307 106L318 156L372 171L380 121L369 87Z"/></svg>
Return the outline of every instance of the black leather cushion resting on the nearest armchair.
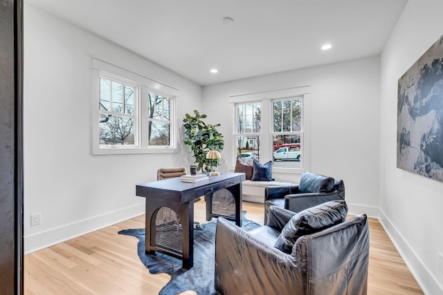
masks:
<svg viewBox="0 0 443 295"><path fill-rule="evenodd" d="M347 205L344 200L319 204L296 213L285 225L274 247L291 254L292 247L300 236L314 234L345 221Z"/></svg>

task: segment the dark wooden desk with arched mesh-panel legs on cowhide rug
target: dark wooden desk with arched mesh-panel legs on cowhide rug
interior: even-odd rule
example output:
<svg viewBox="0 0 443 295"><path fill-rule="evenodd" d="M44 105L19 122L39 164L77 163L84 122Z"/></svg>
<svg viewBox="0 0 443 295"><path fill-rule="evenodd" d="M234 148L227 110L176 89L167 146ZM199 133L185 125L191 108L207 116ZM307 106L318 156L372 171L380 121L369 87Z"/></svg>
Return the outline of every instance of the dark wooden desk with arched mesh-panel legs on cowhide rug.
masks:
<svg viewBox="0 0 443 295"><path fill-rule="evenodd" d="M138 184L136 195L146 198L146 253L168 254L183 260L183 268L190 269L194 264L194 199L206 196L207 220L225 216L224 211L213 213L212 204L217 193L226 190L235 200L235 212L225 217L241 227L244 180L244 173L221 173L195 183L171 178Z"/></svg>

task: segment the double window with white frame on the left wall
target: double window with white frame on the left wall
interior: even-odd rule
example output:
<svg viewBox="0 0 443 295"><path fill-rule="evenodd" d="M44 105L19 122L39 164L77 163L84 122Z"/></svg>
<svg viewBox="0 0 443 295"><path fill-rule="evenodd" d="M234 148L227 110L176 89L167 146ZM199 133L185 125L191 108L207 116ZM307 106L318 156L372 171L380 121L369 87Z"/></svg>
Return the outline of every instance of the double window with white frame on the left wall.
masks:
<svg viewBox="0 0 443 295"><path fill-rule="evenodd" d="M177 89L98 59L93 86L93 154L176 151Z"/></svg>

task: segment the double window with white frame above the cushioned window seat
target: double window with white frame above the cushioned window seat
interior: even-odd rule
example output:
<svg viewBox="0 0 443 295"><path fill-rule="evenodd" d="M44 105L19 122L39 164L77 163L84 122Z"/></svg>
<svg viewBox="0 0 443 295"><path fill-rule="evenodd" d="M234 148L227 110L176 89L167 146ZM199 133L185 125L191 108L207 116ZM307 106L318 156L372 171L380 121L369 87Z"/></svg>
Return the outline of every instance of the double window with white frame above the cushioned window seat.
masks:
<svg viewBox="0 0 443 295"><path fill-rule="evenodd" d="M273 162L273 172L309 170L309 86L231 95L235 158Z"/></svg>

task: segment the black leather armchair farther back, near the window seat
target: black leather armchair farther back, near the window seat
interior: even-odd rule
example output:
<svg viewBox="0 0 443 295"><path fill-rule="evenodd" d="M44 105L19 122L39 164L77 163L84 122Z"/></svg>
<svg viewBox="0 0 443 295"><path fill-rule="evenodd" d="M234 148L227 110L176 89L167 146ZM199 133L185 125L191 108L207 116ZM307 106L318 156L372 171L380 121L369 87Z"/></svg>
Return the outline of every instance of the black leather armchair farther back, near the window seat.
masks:
<svg viewBox="0 0 443 295"><path fill-rule="evenodd" d="M305 171L298 185L264 189L264 222L271 206L300 212L331 200L345 200L343 180Z"/></svg>

